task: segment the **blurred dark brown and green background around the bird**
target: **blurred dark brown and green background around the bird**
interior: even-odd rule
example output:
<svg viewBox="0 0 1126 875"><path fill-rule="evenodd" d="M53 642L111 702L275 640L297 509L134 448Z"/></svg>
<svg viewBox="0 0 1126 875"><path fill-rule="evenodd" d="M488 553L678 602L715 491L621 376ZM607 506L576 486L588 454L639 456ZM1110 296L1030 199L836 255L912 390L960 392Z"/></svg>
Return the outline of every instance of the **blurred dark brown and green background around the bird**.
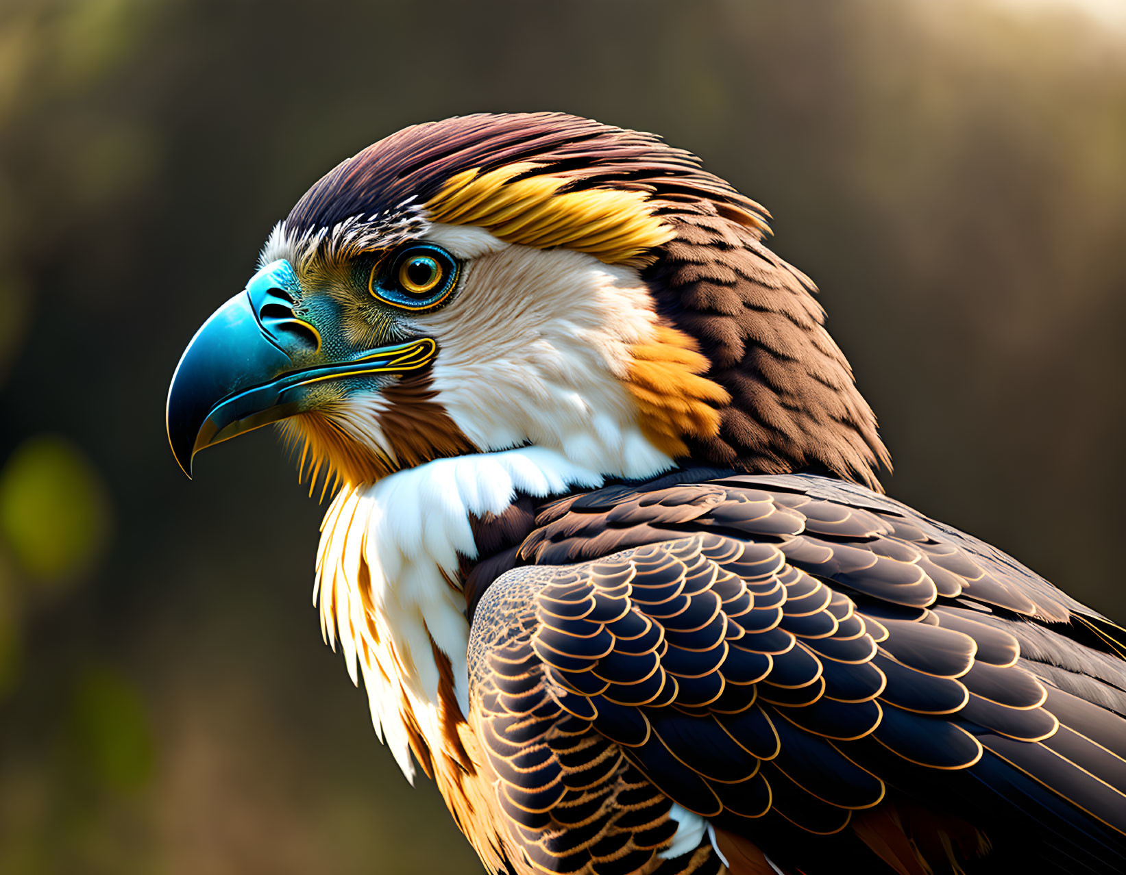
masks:
<svg viewBox="0 0 1126 875"><path fill-rule="evenodd" d="M321 642L293 462L189 482L163 406L321 173L534 109L765 204L892 495L1126 619L1119 0L3 0L0 872L480 871Z"/></svg>

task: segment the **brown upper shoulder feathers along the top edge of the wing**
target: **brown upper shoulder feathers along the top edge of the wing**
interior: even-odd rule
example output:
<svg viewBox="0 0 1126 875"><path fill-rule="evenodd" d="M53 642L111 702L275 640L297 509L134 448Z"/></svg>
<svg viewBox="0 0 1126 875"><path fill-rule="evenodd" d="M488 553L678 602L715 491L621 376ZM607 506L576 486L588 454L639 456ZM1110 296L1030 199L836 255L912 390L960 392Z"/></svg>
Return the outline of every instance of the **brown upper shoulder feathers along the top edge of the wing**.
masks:
<svg viewBox="0 0 1126 875"><path fill-rule="evenodd" d="M777 544L790 563L904 608L959 599L982 614L1047 624L1099 616L973 535L864 486L814 475L680 470L539 503L521 496L504 514L475 522L484 568L473 569L471 602L509 569L714 534Z"/></svg>

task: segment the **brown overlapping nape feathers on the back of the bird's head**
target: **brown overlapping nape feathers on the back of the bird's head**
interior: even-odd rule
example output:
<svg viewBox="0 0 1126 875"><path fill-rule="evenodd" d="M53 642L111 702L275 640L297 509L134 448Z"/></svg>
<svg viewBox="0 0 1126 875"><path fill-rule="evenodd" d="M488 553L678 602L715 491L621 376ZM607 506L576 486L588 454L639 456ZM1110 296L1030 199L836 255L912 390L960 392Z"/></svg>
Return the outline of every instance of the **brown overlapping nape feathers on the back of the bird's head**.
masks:
<svg viewBox="0 0 1126 875"><path fill-rule="evenodd" d="M683 435L697 463L786 473L812 470L879 489L891 468L876 416L824 327L816 287L759 236L701 202L643 276L658 312L711 361L703 375L730 394L718 427Z"/></svg>

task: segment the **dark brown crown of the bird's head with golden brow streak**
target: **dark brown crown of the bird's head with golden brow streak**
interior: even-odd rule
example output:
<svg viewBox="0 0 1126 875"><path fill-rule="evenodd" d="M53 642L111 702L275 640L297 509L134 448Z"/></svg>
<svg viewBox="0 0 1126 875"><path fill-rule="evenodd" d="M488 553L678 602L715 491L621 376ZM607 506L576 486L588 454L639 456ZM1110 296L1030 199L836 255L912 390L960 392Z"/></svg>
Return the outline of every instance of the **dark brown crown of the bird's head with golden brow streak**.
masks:
<svg viewBox="0 0 1126 875"><path fill-rule="evenodd" d="M293 238L432 220L607 263L652 261L678 205L714 202L761 234L766 210L652 134L560 112L472 115L400 130L342 161L289 213ZM348 228L347 223L355 227ZM382 243L381 243L382 245Z"/></svg>

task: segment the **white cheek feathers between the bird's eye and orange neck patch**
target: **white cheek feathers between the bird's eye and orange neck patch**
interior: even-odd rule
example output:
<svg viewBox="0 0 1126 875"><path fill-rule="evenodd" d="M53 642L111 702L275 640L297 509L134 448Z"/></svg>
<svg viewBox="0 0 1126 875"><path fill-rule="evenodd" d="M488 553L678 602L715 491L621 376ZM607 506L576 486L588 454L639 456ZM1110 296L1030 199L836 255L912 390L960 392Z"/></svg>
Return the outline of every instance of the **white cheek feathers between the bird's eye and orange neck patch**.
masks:
<svg viewBox="0 0 1126 875"><path fill-rule="evenodd" d="M672 466L642 435L622 382L629 348L656 323L636 271L480 228L435 225L427 238L483 253L466 260L449 306L413 321L438 342L437 400L476 446L552 446L626 477Z"/></svg>

